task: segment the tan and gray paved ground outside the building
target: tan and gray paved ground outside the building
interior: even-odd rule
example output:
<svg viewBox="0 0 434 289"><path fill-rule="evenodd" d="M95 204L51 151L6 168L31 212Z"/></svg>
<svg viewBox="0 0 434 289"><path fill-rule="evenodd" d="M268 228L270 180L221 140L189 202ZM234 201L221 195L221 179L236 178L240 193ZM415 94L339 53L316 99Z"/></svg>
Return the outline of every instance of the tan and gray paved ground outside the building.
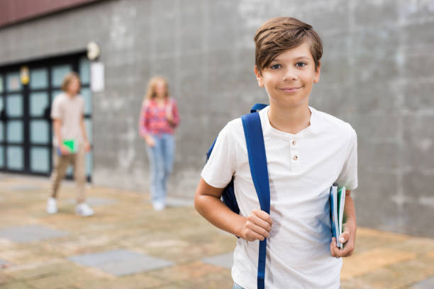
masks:
<svg viewBox="0 0 434 289"><path fill-rule="evenodd" d="M91 187L96 215L82 218L72 184L56 215L47 191L46 179L0 175L0 289L231 288L235 237L189 202L154 212L146 194ZM341 278L342 288L434 288L434 239L359 228Z"/></svg>

